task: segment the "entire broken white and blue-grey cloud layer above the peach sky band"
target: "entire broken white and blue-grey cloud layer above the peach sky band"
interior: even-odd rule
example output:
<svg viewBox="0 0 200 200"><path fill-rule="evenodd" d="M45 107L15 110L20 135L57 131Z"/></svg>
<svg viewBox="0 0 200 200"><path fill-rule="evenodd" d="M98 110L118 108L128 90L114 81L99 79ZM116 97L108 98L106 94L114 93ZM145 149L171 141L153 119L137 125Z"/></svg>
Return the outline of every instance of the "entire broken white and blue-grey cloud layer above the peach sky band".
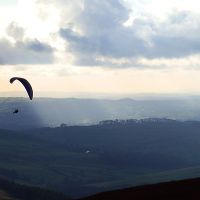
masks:
<svg viewBox="0 0 200 200"><path fill-rule="evenodd" d="M171 9L158 17L125 0L35 0L27 8L34 15L29 30L10 22L0 39L1 64L55 64L73 57L70 64L78 66L162 68L187 58L197 63L200 55L200 12ZM33 32L46 38L30 34L33 21Z"/></svg>

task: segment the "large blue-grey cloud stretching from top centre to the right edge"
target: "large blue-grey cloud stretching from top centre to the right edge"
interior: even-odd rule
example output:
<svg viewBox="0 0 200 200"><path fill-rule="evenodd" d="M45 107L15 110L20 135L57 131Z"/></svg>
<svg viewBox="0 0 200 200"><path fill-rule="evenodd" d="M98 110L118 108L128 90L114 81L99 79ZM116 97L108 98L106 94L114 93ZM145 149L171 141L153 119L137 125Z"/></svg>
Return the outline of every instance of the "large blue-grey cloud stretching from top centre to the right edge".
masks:
<svg viewBox="0 0 200 200"><path fill-rule="evenodd" d="M79 65L107 64L96 59L101 56L171 59L200 53L199 16L176 12L164 22L144 17L127 27L123 23L129 14L119 0L85 0L70 25L60 29L67 42L66 51L75 55Z"/></svg>

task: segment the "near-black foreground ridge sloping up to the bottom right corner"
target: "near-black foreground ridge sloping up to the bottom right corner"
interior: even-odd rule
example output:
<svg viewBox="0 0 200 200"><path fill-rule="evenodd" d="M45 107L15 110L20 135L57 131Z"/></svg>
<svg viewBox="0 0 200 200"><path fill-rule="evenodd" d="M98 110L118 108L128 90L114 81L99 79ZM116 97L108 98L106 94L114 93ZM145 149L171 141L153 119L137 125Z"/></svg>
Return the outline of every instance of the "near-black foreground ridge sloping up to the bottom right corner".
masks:
<svg viewBox="0 0 200 200"><path fill-rule="evenodd" d="M193 200L200 199L200 178L103 192L81 200Z"/></svg>

